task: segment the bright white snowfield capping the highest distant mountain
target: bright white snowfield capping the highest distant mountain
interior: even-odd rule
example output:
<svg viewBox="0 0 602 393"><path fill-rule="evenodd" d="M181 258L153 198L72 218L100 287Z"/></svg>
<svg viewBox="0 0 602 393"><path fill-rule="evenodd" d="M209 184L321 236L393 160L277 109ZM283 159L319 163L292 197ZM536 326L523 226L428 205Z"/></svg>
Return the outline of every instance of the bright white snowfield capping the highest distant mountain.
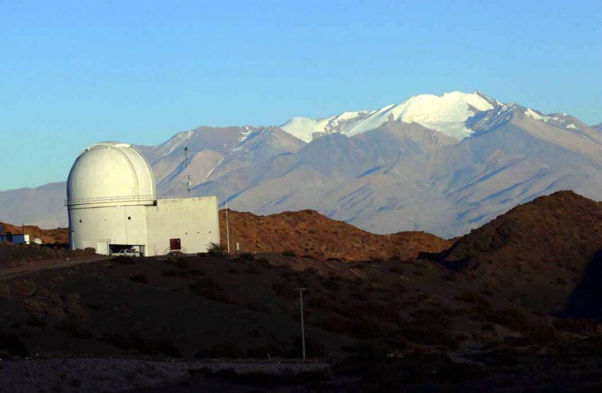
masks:
<svg viewBox="0 0 602 393"><path fill-rule="evenodd" d="M449 137L463 139L472 135L467 120L479 113L499 107L499 101L481 92L453 91L441 96L420 94L399 105L389 105L379 110L344 112L327 119L312 120L292 118L280 127L295 137L311 142L314 137L340 132L353 136L374 130L388 120L402 123L419 123Z"/></svg>

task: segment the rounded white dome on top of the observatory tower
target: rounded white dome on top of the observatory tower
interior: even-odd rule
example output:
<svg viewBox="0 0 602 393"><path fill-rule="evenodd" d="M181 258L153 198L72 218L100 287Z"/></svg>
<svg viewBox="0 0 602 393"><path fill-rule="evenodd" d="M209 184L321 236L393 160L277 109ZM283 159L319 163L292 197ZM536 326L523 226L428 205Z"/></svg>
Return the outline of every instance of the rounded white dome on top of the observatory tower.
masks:
<svg viewBox="0 0 602 393"><path fill-rule="evenodd" d="M134 202L156 198L152 169L129 144L103 142L75 160L67 181L67 204Z"/></svg>

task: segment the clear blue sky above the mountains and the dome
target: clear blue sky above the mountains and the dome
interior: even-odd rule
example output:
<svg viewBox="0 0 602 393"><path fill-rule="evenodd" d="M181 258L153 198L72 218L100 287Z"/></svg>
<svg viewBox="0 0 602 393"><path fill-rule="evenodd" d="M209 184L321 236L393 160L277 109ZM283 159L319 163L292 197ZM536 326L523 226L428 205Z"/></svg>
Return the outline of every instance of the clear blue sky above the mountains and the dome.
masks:
<svg viewBox="0 0 602 393"><path fill-rule="evenodd" d="M101 140L453 90L602 121L602 1L0 0L0 190Z"/></svg>

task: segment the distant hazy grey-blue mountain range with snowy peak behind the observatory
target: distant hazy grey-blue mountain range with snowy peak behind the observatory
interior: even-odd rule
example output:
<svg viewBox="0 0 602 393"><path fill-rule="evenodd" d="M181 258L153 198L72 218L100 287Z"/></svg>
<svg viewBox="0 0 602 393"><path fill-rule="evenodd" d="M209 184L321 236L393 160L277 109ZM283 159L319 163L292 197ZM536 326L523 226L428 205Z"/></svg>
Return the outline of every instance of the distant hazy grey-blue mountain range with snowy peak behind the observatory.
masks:
<svg viewBox="0 0 602 393"><path fill-rule="evenodd" d="M187 195L190 175L190 195L218 195L222 207L313 209L374 233L456 237L557 190L602 199L601 128L453 92L280 127L198 127L136 147L160 195ZM0 220L64 226L64 188L0 192Z"/></svg>

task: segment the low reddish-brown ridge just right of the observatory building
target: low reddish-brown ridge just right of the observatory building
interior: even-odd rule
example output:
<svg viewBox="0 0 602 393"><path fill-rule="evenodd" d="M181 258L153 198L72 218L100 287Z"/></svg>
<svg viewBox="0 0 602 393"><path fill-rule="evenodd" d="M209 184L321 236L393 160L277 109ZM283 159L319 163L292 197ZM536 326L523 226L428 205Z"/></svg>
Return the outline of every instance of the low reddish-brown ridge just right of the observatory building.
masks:
<svg viewBox="0 0 602 393"><path fill-rule="evenodd" d="M229 210L230 247L242 252L293 251L317 258L358 261L369 258L415 258L419 252L441 252L452 242L424 232L377 235L331 220L314 210L258 216ZM225 210L220 211L222 245L227 245Z"/></svg>

